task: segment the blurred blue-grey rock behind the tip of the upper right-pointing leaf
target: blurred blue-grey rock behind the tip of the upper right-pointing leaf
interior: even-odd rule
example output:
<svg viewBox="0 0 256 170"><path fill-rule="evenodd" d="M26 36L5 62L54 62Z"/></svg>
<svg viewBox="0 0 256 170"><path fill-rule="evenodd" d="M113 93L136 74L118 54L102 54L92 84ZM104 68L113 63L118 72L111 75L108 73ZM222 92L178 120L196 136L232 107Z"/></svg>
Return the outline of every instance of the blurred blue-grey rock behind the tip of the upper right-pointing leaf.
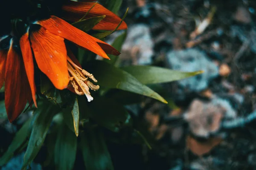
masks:
<svg viewBox="0 0 256 170"><path fill-rule="evenodd" d="M188 79L177 81L183 87L190 91L202 91L207 88L211 79L218 76L218 67L211 62L208 56L198 49L186 49L180 51L170 51L166 54L169 67L179 71L199 71L204 73Z"/></svg>

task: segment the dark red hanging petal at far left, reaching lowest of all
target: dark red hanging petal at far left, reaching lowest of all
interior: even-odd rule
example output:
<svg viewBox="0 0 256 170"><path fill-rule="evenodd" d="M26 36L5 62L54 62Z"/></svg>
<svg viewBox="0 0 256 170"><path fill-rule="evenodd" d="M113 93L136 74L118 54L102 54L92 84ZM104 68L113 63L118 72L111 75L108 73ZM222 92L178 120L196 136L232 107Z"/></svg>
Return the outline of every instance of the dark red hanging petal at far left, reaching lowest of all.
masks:
<svg viewBox="0 0 256 170"><path fill-rule="evenodd" d="M13 49L13 40L7 55L5 71L5 105L10 122L23 111L29 98L29 82L22 57Z"/></svg>

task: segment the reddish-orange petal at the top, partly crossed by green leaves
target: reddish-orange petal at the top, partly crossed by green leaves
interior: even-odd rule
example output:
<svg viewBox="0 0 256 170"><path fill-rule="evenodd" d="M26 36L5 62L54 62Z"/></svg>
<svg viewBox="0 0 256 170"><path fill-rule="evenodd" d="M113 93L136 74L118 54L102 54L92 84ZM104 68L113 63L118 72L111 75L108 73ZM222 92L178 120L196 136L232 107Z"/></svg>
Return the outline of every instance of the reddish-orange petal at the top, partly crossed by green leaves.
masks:
<svg viewBox="0 0 256 170"><path fill-rule="evenodd" d="M90 2L69 1L69 3L62 6L62 9L64 10L64 18L71 21L78 21L94 4L95 3ZM89 14L87 14L84 19L101 15L106 15L106 17L93 27L95 30L114 30L121 21L116 14L98 3L90 10ZM127 29L127 24L124 21L118 28L118 30L122 29Z"/></svg>

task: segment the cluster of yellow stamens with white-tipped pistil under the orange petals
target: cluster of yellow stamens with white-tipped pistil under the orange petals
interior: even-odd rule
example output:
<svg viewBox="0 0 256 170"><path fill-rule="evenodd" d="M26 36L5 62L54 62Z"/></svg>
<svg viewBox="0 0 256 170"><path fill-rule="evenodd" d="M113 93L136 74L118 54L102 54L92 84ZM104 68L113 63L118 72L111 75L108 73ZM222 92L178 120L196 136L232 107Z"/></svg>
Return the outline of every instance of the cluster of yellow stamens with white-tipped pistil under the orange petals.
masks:
<svg viewBox="0 0 256 170"><path fill-rule="evenodd" d="M93 97L90 95L89 88L91 90L99 90L99 85L94 85L88 80L90 78L93 82L97 80L93 77L93 74L88 73L87 71L81 69L76 65L70 57L67 56L67 68L70 73L70 86L72 86L78 95L83 95L87 97L88 102L93 100Z"/></svg>

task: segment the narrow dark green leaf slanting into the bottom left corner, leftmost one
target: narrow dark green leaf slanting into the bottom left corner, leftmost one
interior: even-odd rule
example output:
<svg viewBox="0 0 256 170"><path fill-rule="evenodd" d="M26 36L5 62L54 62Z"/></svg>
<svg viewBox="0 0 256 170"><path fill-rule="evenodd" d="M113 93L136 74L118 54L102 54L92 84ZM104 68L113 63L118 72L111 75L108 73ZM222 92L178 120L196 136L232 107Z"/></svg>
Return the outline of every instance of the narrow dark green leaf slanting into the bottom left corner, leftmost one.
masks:
<svg viewBox="0 0 256 170"><path fill-rule="evenodd" d="M12 140L12 143L10 144L10 146L8 147L8 150L0 158L0 167L6 164L15 154L15 152L19 148L23 147L24 144L26 144L29 136L28 131L29 131L29 124L31 122L31 119L32 118L26 121L26 123L24 123L24 125L20 128L20 130L17 131L17 133L15 134L15 137ZM4 138L4 136L2 137Z"/></svg>

